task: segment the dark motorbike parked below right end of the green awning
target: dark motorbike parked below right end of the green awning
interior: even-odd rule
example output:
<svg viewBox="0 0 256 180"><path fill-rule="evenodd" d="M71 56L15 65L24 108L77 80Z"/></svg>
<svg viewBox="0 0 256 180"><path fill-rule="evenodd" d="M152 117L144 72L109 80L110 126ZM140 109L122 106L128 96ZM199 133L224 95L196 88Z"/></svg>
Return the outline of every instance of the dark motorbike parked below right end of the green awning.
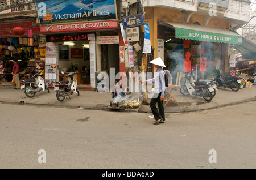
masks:
<svg viewBox="0 0 256 180"><path fill-rule="evenodd" d="M224 87L230 88L232 91L238 91L242 85L241 79L239 76L226 76L224 79L221 77L222 71L217 71L217 77L215 78L217 88Z"/></svg>

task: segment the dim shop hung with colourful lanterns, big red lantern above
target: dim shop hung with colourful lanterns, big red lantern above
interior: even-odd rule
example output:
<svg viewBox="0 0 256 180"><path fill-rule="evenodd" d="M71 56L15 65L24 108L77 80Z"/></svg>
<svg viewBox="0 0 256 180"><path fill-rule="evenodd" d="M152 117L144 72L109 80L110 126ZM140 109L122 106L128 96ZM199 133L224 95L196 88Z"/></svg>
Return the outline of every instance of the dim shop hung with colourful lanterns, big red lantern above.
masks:
<svg viewBox="0 0 256 180"><path fill-rule="evenodd" d="M11 81L14 59L20 66L20 78L39 72L44 66L39 54L39 25L28 20L9 20L0 23L0 59L5 65L5 80ZM40 71L40 75L44 75Z"/></svg>

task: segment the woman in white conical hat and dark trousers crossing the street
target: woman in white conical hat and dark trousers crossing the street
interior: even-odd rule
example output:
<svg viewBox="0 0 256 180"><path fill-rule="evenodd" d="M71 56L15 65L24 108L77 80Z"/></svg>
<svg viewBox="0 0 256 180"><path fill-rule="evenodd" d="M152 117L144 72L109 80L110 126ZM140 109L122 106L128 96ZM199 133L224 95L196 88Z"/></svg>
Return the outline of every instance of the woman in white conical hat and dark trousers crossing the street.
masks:
<svg viewBox="0 0 256 180"><path fill-rule="evenodd" d="M165 115L164 115L164 91L166 89L165 81L164 81L164 71L162 67L166 67L161 58L156 58L150 61L153 65L155 65L156 73L153 79L144 80L144 82L154 82L155 83L155 92L150 101L150 108L152 110L152 114L154 115L155 121L154 125L158 123L164 123ZM158 104L158 108L156 108L156 103Z"/></svg>

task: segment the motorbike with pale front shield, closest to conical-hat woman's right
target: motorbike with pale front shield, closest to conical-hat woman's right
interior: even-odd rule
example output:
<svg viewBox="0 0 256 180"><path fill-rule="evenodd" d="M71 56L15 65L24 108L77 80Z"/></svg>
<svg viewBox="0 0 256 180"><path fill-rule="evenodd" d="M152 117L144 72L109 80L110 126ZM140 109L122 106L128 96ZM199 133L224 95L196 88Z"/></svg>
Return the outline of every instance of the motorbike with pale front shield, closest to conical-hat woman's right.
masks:
<svg viewBox="0 0 256 180"><path fill-rule="evenodd" d="M209 81L195 81L193 70L188 72L185 80L181 82L180 93L183 95L201 96L205 101L211 101L214 88Z"/></svg>

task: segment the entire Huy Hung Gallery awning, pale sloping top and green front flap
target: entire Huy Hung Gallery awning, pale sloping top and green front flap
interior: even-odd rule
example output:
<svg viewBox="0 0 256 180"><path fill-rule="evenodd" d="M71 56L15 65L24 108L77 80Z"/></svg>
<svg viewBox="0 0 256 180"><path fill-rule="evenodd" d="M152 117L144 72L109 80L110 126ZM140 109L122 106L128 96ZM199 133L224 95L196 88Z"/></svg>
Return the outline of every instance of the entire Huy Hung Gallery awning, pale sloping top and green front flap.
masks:
<svg viewBox="0 0 256 180"><path fill-rule="evenodd" d="M242 44L242 36L229 29L206 27L203 25L160 22L175 28L175 37L185 40L220 42L228 44Z"/></svg>

